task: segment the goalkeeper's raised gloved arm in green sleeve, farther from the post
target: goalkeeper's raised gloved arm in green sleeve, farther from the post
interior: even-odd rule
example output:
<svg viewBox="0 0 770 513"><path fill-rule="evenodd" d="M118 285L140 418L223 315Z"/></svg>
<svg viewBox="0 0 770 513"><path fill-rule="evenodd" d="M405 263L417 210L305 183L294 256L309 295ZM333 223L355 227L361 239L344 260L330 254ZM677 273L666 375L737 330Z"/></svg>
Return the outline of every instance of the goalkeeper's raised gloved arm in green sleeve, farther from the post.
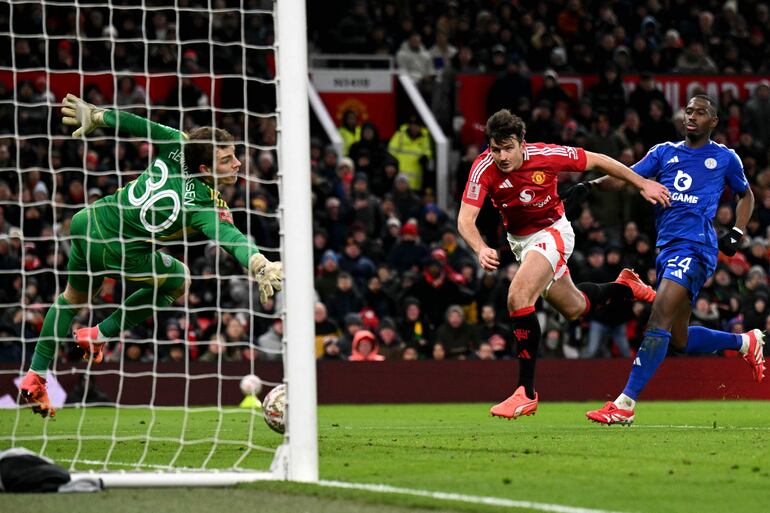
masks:
<svg viewBox="0 0 770 513"><path fill-rule="evenodd" d="M73 137L83 137L103 127L118 128L134 137L154 141L181 141L183 132L160 123L155 123L130 112L103 109L81 100L74 94L67 94L62 107L62 123L75 127Z"/></svg>

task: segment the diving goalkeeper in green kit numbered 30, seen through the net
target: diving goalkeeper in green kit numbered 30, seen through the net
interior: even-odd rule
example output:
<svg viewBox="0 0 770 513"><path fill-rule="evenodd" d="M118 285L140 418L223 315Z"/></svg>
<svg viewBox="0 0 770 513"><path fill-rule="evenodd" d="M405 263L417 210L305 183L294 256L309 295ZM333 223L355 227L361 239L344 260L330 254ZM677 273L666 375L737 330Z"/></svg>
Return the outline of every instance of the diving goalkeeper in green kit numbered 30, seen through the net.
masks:
<svg viewBox="0 0 770 513"><path fill-rule="evenodd" d="M280 290L283 276L280 262L268 261L233 225L216 190L234 184L241 166L227 131L201 127L184 134L134 114L95 107L71 94L64 99L62 115L65 125L77 128L75 137L101 127L117 128L151 140L158 152L138 178L72 218L67 287L45 316L30 370L20 386L22 397L43 417L55 415L45 375L56 344L69 339L72 319L105 277L122 276L140 288L97 326L75 332L84 358L93 363L102 361L106 342L187 292L189 269L166 253L152 251L154 242L204 234L249 270L263 303Z"/></svg>

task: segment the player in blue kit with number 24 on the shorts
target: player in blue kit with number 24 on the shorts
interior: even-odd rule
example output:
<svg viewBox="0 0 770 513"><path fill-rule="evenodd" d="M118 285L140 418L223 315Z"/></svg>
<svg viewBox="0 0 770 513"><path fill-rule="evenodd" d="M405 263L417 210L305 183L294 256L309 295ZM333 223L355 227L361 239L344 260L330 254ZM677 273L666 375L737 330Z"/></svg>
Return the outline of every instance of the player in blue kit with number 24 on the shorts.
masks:
<svg viewBox="0 0 770 513"><path fill-rule="evenodd" d="M712 275L717 253L734 255L754 210L743 164L738 155L711 140L719 121L717 104L706 95L695 95L685 107L686 139L653 146L632 168L655 179L671 191L671 206L655 207L657 247L655 262L658 290L644 340L631 367L625 389L586 416L602 424L631 424L634 407L647 382L666 356L669 343L687 353L732 349L743 354L757 382L764 378L764 334L752 330L733 334L703 327L688 327L692 302ZM618 189L621 184L600 178L578 187ZM717 240L713 219L725 186L735 194L735 226Z"/></svg>

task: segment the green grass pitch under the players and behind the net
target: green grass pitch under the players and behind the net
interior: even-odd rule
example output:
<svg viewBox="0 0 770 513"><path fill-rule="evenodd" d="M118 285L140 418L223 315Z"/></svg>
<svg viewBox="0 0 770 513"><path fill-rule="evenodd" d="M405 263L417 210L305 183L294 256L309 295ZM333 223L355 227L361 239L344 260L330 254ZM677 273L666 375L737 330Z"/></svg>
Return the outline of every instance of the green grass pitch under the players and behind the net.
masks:
<svg viewBox="0 0 770 513"><path fill-rule="evenodd" d="M493 419L486 404L322 406L320 477L472 496L469 502L341 490L292 483L256 483L217 490L112 490L102 494L6 496L3 511L595 511L738 513L766 511L770 490L770 403L761 401L646 402L630 428L584 418L598 404L541 403L536 416ZM207 464L266 469L280 437L257 415L193 410L63 409L54 422L28 411L18 419L17 445L46 430L46 454L68 465L99 461L115 433L114 468ZM3 439L17 424L0 410ZM247 440L213 446L210 439ZM79 431L78 431L79 430ZM74 433L80 433L80 441ZM150 438L146 436L150 434ZM179 441L184 441L180 450ZM245 453L245 456L244 456ZM79 468L89 467L79 464ZM492 506L479 497L530 501L535 509ZM7 509L6 509L7 507ZM551 509L548 509L548 508ZM26 508L26 509L25 509ZM567 508L567 509L559 509ZM571 509L570 509L571 508Z"/></svg>

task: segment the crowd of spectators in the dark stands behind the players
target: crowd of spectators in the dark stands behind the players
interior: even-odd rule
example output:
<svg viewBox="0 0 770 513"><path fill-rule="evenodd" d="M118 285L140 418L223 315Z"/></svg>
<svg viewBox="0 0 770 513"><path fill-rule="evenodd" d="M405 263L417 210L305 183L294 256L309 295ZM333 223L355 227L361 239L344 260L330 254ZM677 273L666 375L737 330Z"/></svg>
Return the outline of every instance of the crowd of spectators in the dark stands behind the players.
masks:
<svg viewBox="0 0 770 513"><path fill-rule="evenodd" d="M244 3L252 9L269 7L257 0ZM224 8L233 2L216 4ZM314 49L393 56L420 84L448 133L457 135L449 128L456 114L455 74L493 73L490 113L510 108L522 116L529 140L581 146L628 165L652 145L683 137L680 106L667 103L655 74L766 74L770 62L770 16L764 2L333 4L308 3ZM61 98L48 90L44 73L34 74L42 66L89 72L114 68L120 71L115 93L91 85L84 99L182 129L213 120L247 141L238 146L243 178L223 198L244 233L268 252L278 246L277 220L270 215L278 206L277 134L269 115L275 94L272 85L256 80L272 78L270 52L250 49L244 57L232 46L216 44L239 40L242 23L249 43L272 44L270 16L217 12L210 45L200 42L209 37L207 17L184 9L178 14L154 10L143 27L140 11L125 11L110 25L105 8L83 7L78 19L63 5L48 6L44 16L40 6L19 4L0 10L0 30L8 30L10 8L12 29L24 36L13 38L12 47L10 41L0 43L0 67L30 70L33 78L8 83L0 77L0 361L31 354L31 345L25 350L24 344L34 343L45 305L66 278L72 215L146 169L154 151L150 143L115 142L108 133L87 144L73 140L49 108ZM152 99L131 77L146 71L179 73L181 79L167 97ZM237 76L222 79L217 107L224 111L214 117L211 90L190 78L208 72L251 78L246 84ZM563 72L597 74L600 80L585 96L573 98L559 84ZM537 73L544 85L533 94L530 77ZM630 93L622 84L627 73L641 75ZM745 246L734 257L720 255L713 279L694 303L693 322L731 332L764 329L770 326L770 82L762 82L747 101L725 91L719 102L715 139L740 155L758 201ZM453 212L437 207L427 130L417 118L404 121L385 139L377 126L361 124L350 112L340 127L345 140L341 157L320 134L312 140L317 356L510 358L506 295L518 266L497 213L489 205L483 209L480 228L500 249L503 265L497 273L482 272L457 235ZM460 147L457 137L455 145L460 154L456 203L480 148ZM717 229L731 227L732 216L725 198ZM654 285L653 214L640 198L626 192L595 194L576 209L573 226L570 272L576 282L612 281L621 268L633 267ZM280 294L260 305L236 262L213 244L190 242L167 251L190 266L190 293L177 309L159 312L156 324L125 333L108 358L280 358L282 325L275 315ZM120 282L106 280L97 306L84 310L74 328L102 320L125 292ZM636 320L608 326L567 323L547 306L538 308L545 357L627 356L640 342L649 313L639 303ZM63 347L60 357L72 361L80 353L74 346Z"/></svg>

